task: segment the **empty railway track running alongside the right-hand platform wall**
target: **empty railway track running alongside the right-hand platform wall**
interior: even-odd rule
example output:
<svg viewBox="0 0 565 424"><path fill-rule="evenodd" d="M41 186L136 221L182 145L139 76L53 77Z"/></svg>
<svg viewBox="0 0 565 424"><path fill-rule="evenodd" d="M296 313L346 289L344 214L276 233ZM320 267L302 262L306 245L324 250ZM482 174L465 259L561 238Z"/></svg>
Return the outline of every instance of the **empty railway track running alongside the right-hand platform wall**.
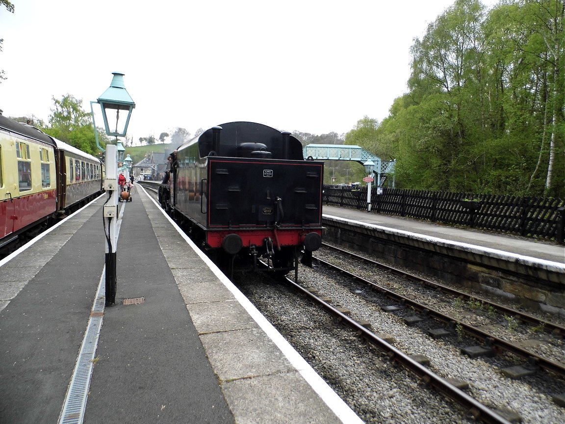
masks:
<svg viewBox="0 0 565 424"><path fill-rule="evenodd" d="M421 321L424 318L432 318L438 322L441 322L444 327L432 328L431 330L429 330L429 333L432 336L440 337L453 334L454 332L458 332L459 334L460 332L465 332L472 339L480 341L479 345L463 349L464 353L467 353L470 356L478 356L479 354L494 355L501 354L502 352L507 352L514 354L516 357L519 357L521 358L521 360L525 361L524 365L518 365L514 369L506 370L506 372L509 374L528 374L532 373L536 369L536 367L541 367L542 369L550 371L551 373L557 374L561 378L565 378L565 364L548 359L546 356L534 352L532 348L526 349L524 347L521 347L521 345L528 344L528 341L531 340L533 335L536 335L537 331L543 331L544 335L547 335L549 337L550 342L547 343L546 340L543 344L547 347L551 346L551 343L554 343L556 345L556 349L554 349L554 351L556 352L554 352L553 356L560 356L561 358L563 358L563 336L565 335L564 327L554 322L545 321L544 319L541 319L539 317L534 317L533 315L525 313L524 311L511 309L507 306L497 304L485 298L473 296L466 292L447 287L446 285L434 283L430 280L420 278L419 276L409 274L405 271L398 270L372 259L362 257L351 252L345 252L344 250L341 250L335 246L325 245L324 247L326 249L332 250L333 252L338 252L342 255L345 254L349 260L353 259L354 261L367 263L371 267L376 267L379 270L389 272L390 275L395 275L403 280L406 280L408 282L408 287L404 287L402 292L408 292L408 294L403 295L398 289L393 290L386 288L384 285L376 284L375 282L373 282L374 278L364 278L358 274L348 271L344 267L339 267L333 265L328 261L324 261L324 259L321 259L319 257L319 253L316 255L316 258L322 265L329 267L334 271L340 272L341 274L347 275L349 276L349 278L357 282L362 282L371 291L379 293L379 295L381 296L390 298L394 302L394 304L384 306L385 310L397 311L410 308L411 310L416 311L418 314L420 314L408 315L408 317L406 317L407 322L415 323ZM371 271L368 271L366 273L371 274ZM416 296L414 296L414 292L416 290L419 290L420 287L427 288L429 292L425 296L419 296L420 298L424 298L425 303L424 301L416 300ZM438 310L437 305L442 302L438 301L437 295L442 296L444 294L450 296L449 299L443 302L443 304L445 305L449 304L449 302L452 302L453 300L459 301L461 305L473 305L474 309L468 309L468 311L470 311L473 315L480 314L480 321L482 321L481 325L476 326L468 323L469 321L476 321L476 319L473 319L475 317L472 317L471 319L458 318L458 311L454 308L449 308L450 310L447 312ZM445 310L446 308L444 307L443 309ZM484 311L486 311L486 314L483 313ZM489 317L488 315L491 315L491 317ZM512 326L515 327L522 324L529 325L529 331L528 329L525 329L524 331L524 338L527 339L506 340L494 334L494 331L485 330L485 328L496 330L497 326L493 324L498 324L498 321L500 321L499 318L501 317L505 317L503 319L505 319L505 321L508 323L509 328L513 328ZM532 331L532 328L537 329L537 331ZM512 331L514 331L515 335L516 331ZM538 338L538 341L541 344L540 338Z"/></svg>

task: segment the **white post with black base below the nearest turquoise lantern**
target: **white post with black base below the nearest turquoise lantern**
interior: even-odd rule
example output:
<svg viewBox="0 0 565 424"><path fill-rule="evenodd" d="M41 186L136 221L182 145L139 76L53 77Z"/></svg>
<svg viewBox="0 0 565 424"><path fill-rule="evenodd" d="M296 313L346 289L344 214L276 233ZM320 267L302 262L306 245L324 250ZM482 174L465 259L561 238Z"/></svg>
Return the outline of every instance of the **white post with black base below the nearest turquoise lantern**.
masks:
<svg viewBox="0 0 565 424"><path fill-rule="evenodd" d="M106 145L106 179L104 188L108 199L104 205L104 232L106 237L106 306L116 303L116 244L118 236L116 222L118 221L118 162L116 145Z"/></svg>

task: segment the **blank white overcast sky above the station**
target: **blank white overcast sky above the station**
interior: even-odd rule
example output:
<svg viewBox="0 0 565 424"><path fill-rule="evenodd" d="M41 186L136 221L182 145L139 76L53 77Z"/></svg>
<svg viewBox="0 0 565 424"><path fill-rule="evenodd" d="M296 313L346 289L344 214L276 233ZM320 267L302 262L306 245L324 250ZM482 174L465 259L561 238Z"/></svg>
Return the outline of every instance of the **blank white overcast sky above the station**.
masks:
<svg viewBox="0 0 565 424"><path fill-rule="evenodd" d="M318 135L381 121L407 90L412 40L453 1L12 4L14 14L0 9L3 114L47 122L66 94L90 111L121 72L137 141L234 120Z"/></svg>

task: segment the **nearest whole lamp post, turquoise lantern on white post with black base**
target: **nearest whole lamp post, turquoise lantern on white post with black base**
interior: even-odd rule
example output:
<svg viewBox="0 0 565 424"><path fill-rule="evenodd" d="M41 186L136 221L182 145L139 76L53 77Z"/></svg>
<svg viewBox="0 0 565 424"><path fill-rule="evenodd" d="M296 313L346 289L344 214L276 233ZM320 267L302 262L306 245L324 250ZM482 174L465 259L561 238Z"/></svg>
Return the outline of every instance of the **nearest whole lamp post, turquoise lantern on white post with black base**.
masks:
<svg viewBox="0 0 565 424"><path fill-rule="evenodd" d="M94 135L96 137L96 145L102 152L106 152L106 179L104 180L104 189L108 192L108 199L103 207L104 213L104 232L106 236L106 306L115 304L116 302L116 245L118 244L118 235L116 232L116 221L118 220L118 162L123 161L125 149L118 141L118 137L125 137L128 131L129 118L131 118L132 110L136 107L136 103L129 96L124 85L124 74L120 72L112 72L112 82L110 87L98 97L97 101L90 102L90 111L92 112L92 123L94 125ZM116 144L106 145L106 150L98 142L98 130L94 122L93 103L98 103L102 109L104 126L108 136L116 137ZM115 111L115 115L114 112ZM120 120L120 111L127 111L125 119ZM109 115L108 115L109 114ZM112 118L115 116L115 118ZM115 124L112 119L115 119ZM112 124L110 129L109 123ZM119 148L121 146L121 151ZM118 156L121 154L121 157Z"/></svg>

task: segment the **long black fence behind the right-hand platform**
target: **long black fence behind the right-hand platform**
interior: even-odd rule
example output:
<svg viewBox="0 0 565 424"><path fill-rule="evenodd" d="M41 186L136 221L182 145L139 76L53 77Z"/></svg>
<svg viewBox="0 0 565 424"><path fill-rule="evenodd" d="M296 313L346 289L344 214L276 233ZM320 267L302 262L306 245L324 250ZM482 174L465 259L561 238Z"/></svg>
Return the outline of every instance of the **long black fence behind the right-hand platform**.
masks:
<svg viewBox="0 0 565 424"><path fill-rule="evenodd" d="M324 185L323 202L367 209L367 187ZM553 197L373 188L371 211L537 237L560 244L565 238L565 201Z"/></svg>

